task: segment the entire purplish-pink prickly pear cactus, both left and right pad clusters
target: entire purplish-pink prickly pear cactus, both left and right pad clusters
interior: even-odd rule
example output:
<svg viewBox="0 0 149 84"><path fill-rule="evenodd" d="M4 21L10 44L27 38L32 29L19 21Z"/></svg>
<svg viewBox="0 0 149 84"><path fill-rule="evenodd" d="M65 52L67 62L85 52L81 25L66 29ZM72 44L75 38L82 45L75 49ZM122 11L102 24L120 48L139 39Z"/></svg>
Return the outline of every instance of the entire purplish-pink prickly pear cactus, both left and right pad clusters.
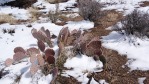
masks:
<svg viewBox="0 0 149 84"><path fill-rule="evenodd" d="M14 49L15 54L13 55L13 59L8 58L5 61L6 66L22 62L25 58L30 58L30 73L34 75L39 69L45 75L52 73L52 82L54 82L58 75L58 70L61 70L68 57L85 54L87 56L93 56L96 60L101 60L102 52L99 37L90 38L90 35L82 33L81 30L74 29L70 32L67 27L61 29L57 40L59 47L57 60L54 57L54 50L50 49L53 47L50 31L42 27L38 31L32 29L31 33L37 39L38 48L32 47L25 50L22 47L16 47Z"/></svg>

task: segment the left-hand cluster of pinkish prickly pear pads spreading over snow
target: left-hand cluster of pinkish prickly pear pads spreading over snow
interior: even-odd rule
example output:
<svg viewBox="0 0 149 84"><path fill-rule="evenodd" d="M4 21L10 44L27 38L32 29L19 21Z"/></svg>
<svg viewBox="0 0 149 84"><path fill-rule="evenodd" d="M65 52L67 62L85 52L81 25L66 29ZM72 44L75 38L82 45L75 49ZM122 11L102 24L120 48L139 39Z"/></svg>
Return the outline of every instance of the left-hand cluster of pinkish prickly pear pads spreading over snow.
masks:
<svg viewBox="0 0 149 84"><path fill-rule="evenodd" d="M55 66L55 51L51 49L53 45L49 30L45 30L42 27L39 31L32 29L31 33L37 39L38 48L31 47L25 50L22 47L16 47L14 49L13 59L8 58L5 61L5 65L9 67L12 64L20 63L29 58L31 63L30 73L32 75L40 69L45 75L52 73L53 79L55 79L58 68ZM45 43L49 46L46 47Z"/></svg>

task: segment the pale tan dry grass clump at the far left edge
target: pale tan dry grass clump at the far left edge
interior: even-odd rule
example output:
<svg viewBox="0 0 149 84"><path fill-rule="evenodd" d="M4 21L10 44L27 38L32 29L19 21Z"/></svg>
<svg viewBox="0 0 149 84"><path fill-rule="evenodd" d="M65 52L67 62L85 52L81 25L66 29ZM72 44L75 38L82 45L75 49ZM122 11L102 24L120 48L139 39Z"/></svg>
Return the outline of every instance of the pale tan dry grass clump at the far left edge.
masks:
<svg viewBox="0 0 149 84"><path fill-rule="evenodd" d="M0 14L0 24L3 24L3 23L16 24L17 20L9 14L1 13Z"/></svg>

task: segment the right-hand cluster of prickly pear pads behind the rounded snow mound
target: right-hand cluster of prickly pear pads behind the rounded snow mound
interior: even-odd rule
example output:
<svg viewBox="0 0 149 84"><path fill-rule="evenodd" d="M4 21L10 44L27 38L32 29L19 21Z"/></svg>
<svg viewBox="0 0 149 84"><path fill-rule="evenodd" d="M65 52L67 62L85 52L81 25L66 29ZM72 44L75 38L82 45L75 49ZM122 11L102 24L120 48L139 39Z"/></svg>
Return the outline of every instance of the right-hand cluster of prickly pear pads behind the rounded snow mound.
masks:
<svg viewBox="0 0 149 84"><path fill-rule="evenodd" d="M91 37L91 38L90 38ZM92 56L95 60L102 60L105 62L105 58L101 51L101 41L99 37L94 37L83 33L81 30L72 30L71 32L67 27L63 28L58 36L58 46L59 46L59 57L57 59L57 65L63 66L68 57L76 56L77 54L84 54L87 56ZM71 54L68 54L68 48Z"/></svg>

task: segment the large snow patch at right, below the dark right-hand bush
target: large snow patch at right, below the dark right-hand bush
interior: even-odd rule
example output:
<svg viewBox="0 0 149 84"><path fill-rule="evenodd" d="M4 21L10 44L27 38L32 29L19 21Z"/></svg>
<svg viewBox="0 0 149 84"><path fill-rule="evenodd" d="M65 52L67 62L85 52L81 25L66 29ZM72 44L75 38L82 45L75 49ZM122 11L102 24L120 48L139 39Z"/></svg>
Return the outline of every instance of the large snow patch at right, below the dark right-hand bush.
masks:
<svg viewBox="0 0 149 84"><path fill-rule="evenodd" d="M128 62L131 70L149 70L149 39L128 38L115 31L108 36L103 36L103 46L116 50L121 55L127 55L128 59L134 59Z"/></svg>

